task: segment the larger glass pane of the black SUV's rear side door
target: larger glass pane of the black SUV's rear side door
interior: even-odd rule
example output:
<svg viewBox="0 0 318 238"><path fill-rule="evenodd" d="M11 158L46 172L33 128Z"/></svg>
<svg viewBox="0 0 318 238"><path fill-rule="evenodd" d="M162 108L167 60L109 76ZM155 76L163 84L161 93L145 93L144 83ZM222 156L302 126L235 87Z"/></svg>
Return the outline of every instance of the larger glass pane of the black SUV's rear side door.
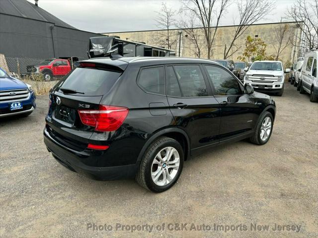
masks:
<svg viewBox="0 0 318 238"><path fill-rule="evenodd" d="M208 96L207 86L199 65L174 65L183 97Z"/></svg>

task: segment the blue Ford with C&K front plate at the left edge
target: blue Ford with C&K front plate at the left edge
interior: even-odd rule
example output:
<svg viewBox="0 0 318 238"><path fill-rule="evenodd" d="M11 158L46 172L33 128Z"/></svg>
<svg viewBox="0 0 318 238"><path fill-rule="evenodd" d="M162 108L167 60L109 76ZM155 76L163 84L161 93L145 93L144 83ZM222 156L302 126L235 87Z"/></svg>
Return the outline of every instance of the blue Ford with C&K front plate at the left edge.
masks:
<svg viewBox="0 0 318 238"><path fill-rule="evenodd" d="M0 118L29 116L35 109L32 86L9 76L0 68Z"/></svg>

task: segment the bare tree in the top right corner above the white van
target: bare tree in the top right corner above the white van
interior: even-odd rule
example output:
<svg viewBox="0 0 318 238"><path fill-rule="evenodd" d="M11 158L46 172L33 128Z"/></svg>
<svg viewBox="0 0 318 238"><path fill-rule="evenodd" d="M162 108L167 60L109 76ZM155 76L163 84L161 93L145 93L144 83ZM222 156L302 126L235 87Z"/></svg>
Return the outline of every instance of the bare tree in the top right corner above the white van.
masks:
<svg viewBox="0 0 318 238"><path fill-rule="evenodd" d="M295 37L304 41L304 47L318 48L318 0L296 0L288 9L287 16L296 21L296 26L301 30L304 38L301 39L298 35Z"/></svg>

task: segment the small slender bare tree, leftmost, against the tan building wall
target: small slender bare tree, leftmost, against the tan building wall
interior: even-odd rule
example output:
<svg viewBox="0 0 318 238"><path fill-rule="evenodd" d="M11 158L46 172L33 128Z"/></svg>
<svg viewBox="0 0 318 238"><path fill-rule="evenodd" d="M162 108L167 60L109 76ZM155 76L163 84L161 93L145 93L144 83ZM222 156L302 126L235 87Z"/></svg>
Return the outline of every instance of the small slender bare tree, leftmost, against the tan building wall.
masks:
<svg viewBox="0 0 318 238"><path fill-rule="evenodd" d="M171 47L177 42L177 38L171 38L171 26L175 24L174 16L176 14L176 10L172 10L172 8L167 7L165 3L161 3L160 11L156 11L157 18L155 19L157 22L157 27L164 31L159 31L158 33L158 41L156 44L160 46L167 47L171 49Z"/></svg>

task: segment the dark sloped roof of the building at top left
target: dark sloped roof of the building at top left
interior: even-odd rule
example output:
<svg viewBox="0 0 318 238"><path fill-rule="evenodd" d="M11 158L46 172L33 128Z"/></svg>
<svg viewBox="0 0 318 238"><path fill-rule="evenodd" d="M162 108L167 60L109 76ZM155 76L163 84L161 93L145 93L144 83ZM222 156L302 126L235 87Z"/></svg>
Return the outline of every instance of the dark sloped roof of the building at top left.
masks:
<svg viewBox="0 0 318 238"><path fill-rule="evenodd" d="M51 22L56 26L76 29L27 0L0 0L0 13Z"/></svg>

